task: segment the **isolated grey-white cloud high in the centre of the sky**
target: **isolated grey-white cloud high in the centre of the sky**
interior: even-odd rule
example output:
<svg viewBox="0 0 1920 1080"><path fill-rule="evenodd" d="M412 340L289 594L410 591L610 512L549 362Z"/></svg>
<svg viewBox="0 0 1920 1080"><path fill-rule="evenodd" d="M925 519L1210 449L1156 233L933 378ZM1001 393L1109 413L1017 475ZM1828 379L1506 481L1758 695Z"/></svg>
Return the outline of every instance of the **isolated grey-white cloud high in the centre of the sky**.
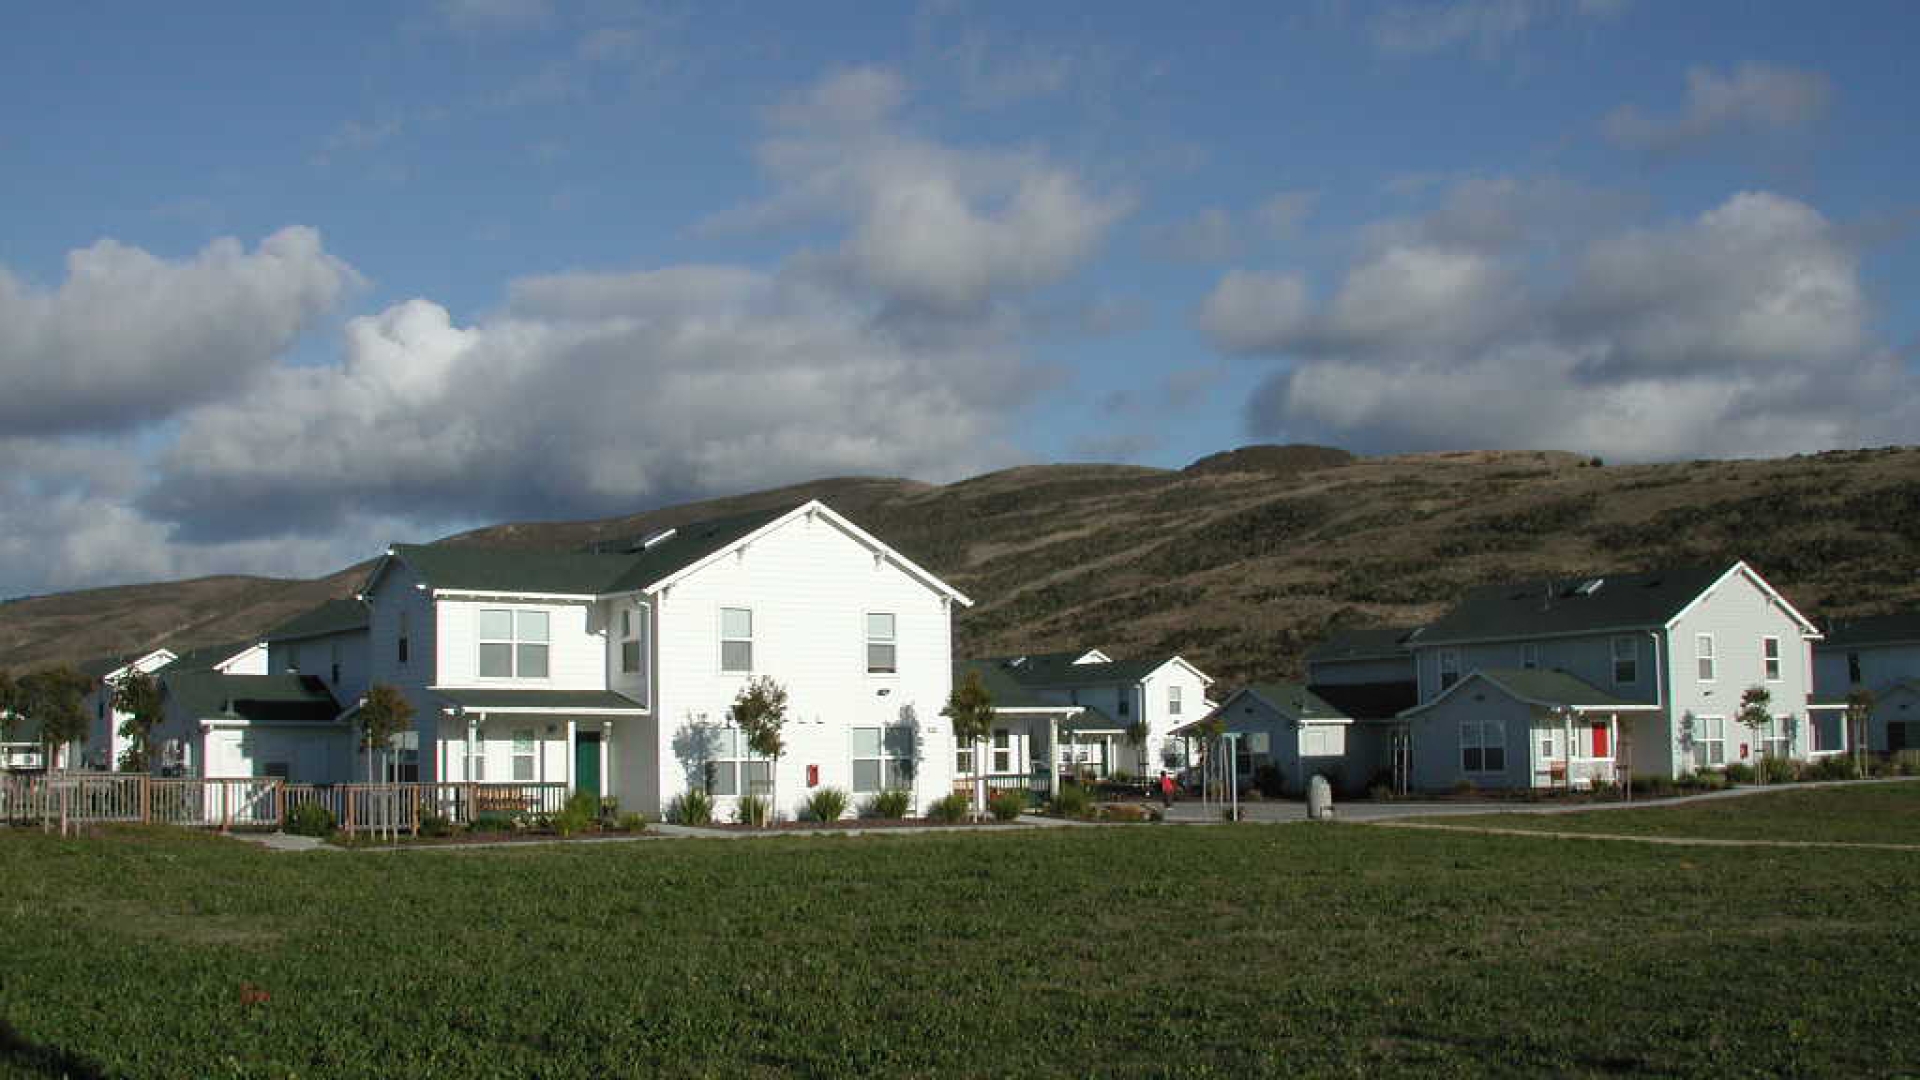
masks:
<svg viewBox="0 0 1920 1080"><path fill-rule="evenodd" d="M975 315L1079 267L1131 209L1044 154L954 148L900 119L891 71L837 71L772 111L758 160L776 192L712 229L831 221L828 265L933 315Z"/></svg>

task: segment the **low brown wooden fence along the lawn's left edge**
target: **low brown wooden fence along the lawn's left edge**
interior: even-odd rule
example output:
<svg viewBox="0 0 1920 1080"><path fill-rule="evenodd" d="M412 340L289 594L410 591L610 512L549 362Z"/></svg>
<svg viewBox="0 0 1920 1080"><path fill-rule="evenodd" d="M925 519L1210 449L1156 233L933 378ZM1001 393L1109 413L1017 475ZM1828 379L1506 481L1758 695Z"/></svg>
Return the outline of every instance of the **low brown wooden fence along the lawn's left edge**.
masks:
<svg viewBox="0 0 1920 1080"><path fill-rule="evenodd" d="M273 776L173 780L129 773L0 776L0 821L69 828L159 822L196 828L280 828L300 805L324 807L338 828L413 832L432 817L472 824L480 817L559 813L566 784L288 784Z"/></svg>

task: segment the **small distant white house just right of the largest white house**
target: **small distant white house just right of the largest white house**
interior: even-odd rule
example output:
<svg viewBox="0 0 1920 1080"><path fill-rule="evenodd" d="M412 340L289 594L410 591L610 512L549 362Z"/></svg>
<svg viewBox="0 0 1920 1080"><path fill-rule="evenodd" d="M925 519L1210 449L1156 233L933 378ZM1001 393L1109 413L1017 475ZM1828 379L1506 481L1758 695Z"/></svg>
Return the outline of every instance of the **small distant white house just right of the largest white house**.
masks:
<svg viewBox="0 0 1920 1080"><path fill-rule="evenodd" d="M1048 788L1054 773L1150 778L1187 765L1173 734L1208 715L1213 680L1185 659L1114 659L1100 650L966 661L956 678L977 673L995 701L995 728L983 761L956 749L956 771ZM1135 740L1135 734L1144 736Z"/></svg>

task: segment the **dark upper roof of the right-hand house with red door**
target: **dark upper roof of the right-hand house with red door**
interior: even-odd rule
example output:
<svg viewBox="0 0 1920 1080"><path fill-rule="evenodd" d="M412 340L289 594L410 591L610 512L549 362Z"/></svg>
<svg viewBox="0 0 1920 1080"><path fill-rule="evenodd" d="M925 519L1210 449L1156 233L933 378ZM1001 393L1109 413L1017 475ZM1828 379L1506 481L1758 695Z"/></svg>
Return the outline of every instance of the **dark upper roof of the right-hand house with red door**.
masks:
<svg viewBox="0 0 1920 1080"><path fill-rule="evenodd" d="M1536 638L1665 626L1726 567L1676 567L1632 575L1521 580L1475 588L1407 646Z"/></svg>

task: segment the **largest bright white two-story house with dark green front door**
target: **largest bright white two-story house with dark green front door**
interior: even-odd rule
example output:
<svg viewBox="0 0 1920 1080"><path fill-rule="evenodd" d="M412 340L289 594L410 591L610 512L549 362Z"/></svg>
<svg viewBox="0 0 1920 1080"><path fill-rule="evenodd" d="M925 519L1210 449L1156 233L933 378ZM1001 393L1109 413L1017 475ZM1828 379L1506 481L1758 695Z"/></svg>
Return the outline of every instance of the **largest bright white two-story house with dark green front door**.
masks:
<svg viewBox="0 0 1920 1080"><path fill-rule="evenodd" d="M394 546L361 600L369 682L411 700L422 782L564 784L647 815L691 788L722 815L772 792L785 817L820 786L920 809L952 790L941 709L970 601L820 502L620 553ZM758 676L787 690L778 763L728 719Z"/></svg>

